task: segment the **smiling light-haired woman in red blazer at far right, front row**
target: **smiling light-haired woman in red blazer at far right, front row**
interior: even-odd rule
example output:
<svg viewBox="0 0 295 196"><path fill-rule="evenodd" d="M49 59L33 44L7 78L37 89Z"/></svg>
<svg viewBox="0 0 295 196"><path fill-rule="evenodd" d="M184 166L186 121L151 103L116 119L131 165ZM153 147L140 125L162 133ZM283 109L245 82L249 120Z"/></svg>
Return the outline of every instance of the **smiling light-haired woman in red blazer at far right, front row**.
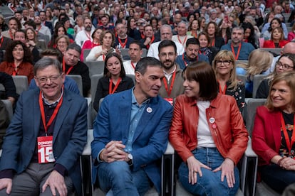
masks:
<svg viewBox="0 0 295 196"><path fill-rule="evenodd" d="M257 108L252 148L257 153L258 180L277 192L295 182L295 72L274 76L265 106Z"/></svg>

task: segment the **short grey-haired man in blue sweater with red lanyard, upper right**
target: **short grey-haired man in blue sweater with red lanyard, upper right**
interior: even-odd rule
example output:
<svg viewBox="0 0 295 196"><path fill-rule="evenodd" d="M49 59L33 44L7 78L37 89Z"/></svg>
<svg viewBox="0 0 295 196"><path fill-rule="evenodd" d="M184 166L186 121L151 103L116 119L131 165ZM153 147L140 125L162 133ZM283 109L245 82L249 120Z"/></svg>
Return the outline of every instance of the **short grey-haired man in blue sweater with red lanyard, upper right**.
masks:
<svg viewBox="0 0 295 196"><path fill-rule="evenodd" d="M222 45L220 50L229 50L234 54L236 60L248 60L250 53L255 50L251 43L243 42L244 29L242 27L232 28L232 41Z"/></svg>

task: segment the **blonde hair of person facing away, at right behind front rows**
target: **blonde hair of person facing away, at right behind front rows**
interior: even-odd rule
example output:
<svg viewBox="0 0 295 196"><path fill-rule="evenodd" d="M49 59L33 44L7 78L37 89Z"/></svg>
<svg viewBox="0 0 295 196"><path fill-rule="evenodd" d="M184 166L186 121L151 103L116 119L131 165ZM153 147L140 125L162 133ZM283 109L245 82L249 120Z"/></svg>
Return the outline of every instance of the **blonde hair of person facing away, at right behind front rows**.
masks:
<svg viewBox="0 0 295 196"><path fill-rule="evenodd" d="M249 55L249 61L247 65L247 76L250 80L253 80L254 75L259 75L262 72L269 69L274 56L268 51L256 49Z"/></svg>

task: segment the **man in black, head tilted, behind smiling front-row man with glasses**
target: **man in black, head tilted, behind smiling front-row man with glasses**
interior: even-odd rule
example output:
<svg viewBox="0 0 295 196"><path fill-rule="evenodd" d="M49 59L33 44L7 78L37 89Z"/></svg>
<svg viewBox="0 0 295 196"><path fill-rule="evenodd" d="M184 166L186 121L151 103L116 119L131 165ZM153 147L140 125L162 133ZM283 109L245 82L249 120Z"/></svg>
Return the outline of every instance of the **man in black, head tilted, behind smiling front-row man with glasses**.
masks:
<svg viewBox="0 0 295 196"><path fill-rule="evenodd" d="M81 47L76 43L68 45L66 52L63 54L63 72L66 75L81 75L83 85L83 96L88 96L90 89L89 69L84 62L79 60Z"/></svg>

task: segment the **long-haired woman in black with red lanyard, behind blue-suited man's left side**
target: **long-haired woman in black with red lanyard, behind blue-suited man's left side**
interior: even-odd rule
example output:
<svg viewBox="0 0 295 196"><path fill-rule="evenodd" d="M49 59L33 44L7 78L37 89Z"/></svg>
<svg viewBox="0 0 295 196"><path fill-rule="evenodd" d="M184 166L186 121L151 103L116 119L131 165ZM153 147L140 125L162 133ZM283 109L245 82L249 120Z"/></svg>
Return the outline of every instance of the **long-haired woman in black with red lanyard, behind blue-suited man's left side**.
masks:
<svg viewBox="0 0 295 196"><path fill-rule="evenodd" d="M93 107L98 111L99 101L108 94L121 92L134 86L130 77L125 75L122 59L117 53L110 53L105 58L103 77L98 80Z"/></svg>

